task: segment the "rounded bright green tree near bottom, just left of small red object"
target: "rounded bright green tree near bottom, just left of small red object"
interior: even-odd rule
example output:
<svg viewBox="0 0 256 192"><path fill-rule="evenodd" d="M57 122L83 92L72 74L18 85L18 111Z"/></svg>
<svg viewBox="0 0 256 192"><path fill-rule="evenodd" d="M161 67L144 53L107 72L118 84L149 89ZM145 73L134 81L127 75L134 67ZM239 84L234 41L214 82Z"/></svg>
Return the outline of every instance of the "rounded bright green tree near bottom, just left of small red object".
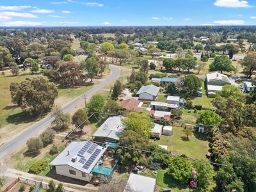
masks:
<svg viewBox="0 0 256 192"><path fill-rule="evenodd" d="M186 184L191 178L191 164L186 159L181 159L179 157L171 158L168 174L173 177L173 179L181 182L182 184Z"/></svg>

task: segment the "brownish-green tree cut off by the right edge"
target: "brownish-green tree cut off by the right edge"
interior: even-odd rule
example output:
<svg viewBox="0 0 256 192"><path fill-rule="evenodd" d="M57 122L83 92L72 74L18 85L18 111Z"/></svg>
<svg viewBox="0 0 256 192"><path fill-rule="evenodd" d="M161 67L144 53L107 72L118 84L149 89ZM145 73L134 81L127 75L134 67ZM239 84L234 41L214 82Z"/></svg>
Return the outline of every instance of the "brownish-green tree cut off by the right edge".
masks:
<svg viewBox="0 0 256 192"><path fill-rule="evenodd" d="M240 61L240 64L244 67L244 70L250 78L253 71L256 70L256 52L249 52L244 59Z"/></svg>

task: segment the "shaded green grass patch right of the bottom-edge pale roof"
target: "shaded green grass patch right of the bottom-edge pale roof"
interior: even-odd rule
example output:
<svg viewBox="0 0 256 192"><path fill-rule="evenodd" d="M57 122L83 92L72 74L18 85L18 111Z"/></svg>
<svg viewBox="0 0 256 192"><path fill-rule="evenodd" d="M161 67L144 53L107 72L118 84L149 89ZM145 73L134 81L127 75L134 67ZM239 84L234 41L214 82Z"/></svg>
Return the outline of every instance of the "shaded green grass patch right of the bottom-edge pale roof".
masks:
<svg viewBox="0 0 256 192"><path fill-rule="evenodd" d="M157 174L154 171L147 170L146 172L140 173L140 175L146 177L152 177L156 179L156 191L162 191L163 188L171 188L172 191L191 191L188 185L181 185L179 182L175 181L170 175L168 175L167 170L157 170Z"/></svg>

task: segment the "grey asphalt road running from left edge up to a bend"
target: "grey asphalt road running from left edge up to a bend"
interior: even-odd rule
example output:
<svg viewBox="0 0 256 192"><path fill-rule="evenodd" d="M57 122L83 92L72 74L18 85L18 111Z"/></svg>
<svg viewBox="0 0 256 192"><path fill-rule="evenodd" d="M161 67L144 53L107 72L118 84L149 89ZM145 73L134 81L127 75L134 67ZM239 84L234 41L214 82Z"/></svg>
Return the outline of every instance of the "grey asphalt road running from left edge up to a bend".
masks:
<svg viewBox="0 0 256 192"><path fill-rule="evenodd" d="M79 105L84 105L84 95L86 96L86 98L90 98L93 94L97 93L99 90L104 88L104 86L115 80L119 76L120 70L118 69L118 67L115 67L114 65L109 65L109 68L112 70L111 76L109 76L107 79L100 82L96 86L93 86L93 88L88 92L84 93L83 95L80 95L76 99L72 100L71 102L63 106L63 112L67 113L68 111L71 111ZM14 150L17 150L17 148L22 147L22 145L24 145L26 141L29 140L29 138L36 136L38 132L47 128L51 124L52 120L53 118L51 116L46 116L39 122L36 122L31 127L29 127L28 130L22 132L22 134L17 136L12 141L9 141L8 143L2 145L0 147L0 160L6 157L7 155L11 154Z"/></svg>

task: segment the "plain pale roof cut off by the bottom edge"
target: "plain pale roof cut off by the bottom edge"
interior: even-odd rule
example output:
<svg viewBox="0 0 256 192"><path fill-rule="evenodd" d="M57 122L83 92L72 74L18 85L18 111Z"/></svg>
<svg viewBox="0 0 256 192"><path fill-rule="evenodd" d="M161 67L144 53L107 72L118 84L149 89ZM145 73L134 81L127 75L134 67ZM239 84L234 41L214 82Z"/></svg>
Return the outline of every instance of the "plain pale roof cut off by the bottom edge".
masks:
<svg viewBox="0 0 256 192"><path fill-rule="evenodd" d="M154 192L156 179L131 173L124 192Z"/></svg>

